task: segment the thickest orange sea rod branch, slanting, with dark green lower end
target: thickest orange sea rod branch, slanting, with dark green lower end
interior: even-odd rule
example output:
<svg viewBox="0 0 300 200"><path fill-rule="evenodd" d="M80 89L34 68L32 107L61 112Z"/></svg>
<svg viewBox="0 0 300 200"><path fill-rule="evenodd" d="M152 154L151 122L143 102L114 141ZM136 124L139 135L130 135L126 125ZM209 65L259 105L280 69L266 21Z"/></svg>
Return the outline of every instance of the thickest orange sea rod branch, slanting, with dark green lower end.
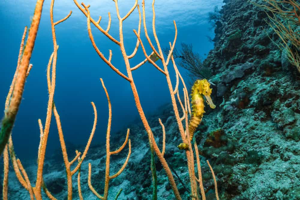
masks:
<svg viewBox="0 0 300 200"><path fill-rule="evenodd" d="M22 100L22 94L24 91L24 85L26 80L26 73L29 66L32 50L35 44L35 38L38 32L40 24L42 7L44 0L38 0L35 6L35 13L33 15L32 23L30 26L28 39L22 55L19 71L16 77L16 82L13 89L13 95L10 100L10 104L4 112L4 119L2 120L2 127L0 132L0 154L2 154L4 147L8 141L13 124L16 118L16 114L19 110L19 105Z"/></svg>

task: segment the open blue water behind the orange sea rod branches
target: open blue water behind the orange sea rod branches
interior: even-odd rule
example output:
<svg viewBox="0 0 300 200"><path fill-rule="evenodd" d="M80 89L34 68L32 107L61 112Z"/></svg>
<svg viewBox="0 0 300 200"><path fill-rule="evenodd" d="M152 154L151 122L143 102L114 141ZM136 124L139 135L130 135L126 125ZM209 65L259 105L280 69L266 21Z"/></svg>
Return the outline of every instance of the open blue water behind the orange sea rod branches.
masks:
<svg viewBox="0 0 300 200"><path fill-rule="evenodd" d="M0 67L0 97L2 108L9 90L19 52L24 27L30 26L30 19L35 9L33 0L27 1L1 1L0 25L1 35L1 67ZM79 1L81 3L81 1ZM114 2L111 0L85 1L90 4L91 16L98 20L102 16L100 25L106 29L108 22L107 12L112 16L110 34L119 40L119 25L116 17ZM152 42L152 1L146 1L146 21ZM124 16L132 7L134 1L120 0L119 9ZM139 2L141 4L141 2ZM176 21L178 37L176 46L180 49L180 43L192 43L193 51L203 58L213 44L208 42L206 35L213 36L209 31L207 20L208 12L214 6L219 8L222 0L157 0L155 2L156 30L162 47L169 46L168 42L174 38L173 20ZM27 78L23 100L13 128L13 142L17 157L21 159L37 157L39 144L38 119L41 118L43 126L46 119L48 92L46 84L46 65L53 51L52 34L49 16L50 2L45 1L41 23L35 42L34 51L30 63L33 68ZM140 7L142 9L142 6ZM112 134L118 130L126 133L127 124L138 117L132 91L129 83L117 75L105 64L95 52L88 37L86 17L76 7L73 1L55 1L54 21L66 16L69 11L73 13L65 22L55 26L58 49L56 70L56 87L54 101L61 118L64 138L67 143L85 144L91 132L93 124L93 109L91 101L95 102L98 111L98 123L93 144L105 140L107 129L108 106L104 90L99 78L103 78L112 102ZM108 58L109 49L113 51L112 62L124 74L126 74L124 60L119 46L107 39L98 29L92 25L92 32L98 48ZM138 28L137 9L124 22L125 48L128 55L136 44L136 36L133 29ZM141 35L148 54L151 52L147 45L143 28ZM131 66L144 60L145 57L139 47L136 56L131 59ZM159 61L157 62L158 64ZM160 65L161 66L161 65ZM175 83L175 73L169 65L170 76ZM179 67L184 75L185 72ZM170 93L166 79L152 64L146 63L133 72L140 100L146 113L152 113L157 107L170 102ZM186 82L187 76L184 76ZM3 113L1 114L3 116ZM52 118L49 139L47 143L48 153L60 148L57 127Z"/></svg>

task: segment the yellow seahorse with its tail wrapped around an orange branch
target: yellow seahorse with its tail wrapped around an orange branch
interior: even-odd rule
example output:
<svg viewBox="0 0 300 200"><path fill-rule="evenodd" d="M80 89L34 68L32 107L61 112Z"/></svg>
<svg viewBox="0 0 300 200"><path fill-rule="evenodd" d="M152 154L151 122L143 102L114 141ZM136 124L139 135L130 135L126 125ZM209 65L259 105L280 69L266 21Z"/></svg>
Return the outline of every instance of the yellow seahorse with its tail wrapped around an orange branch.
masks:
<svg viewBox="0 0 300 200"><path fill-rule="evenodd" d="M216 106L211 100L211 88L210 88L210 83L206 79L202 80L196 80L194 85L192 86L192 91L191 91L191 104L192 104L192 116L189 121L189 134L190 134L190 141L193 139L194 132L198 125L200 124L203 114L205 113L204 111L204 99L203 96L206 99L206 102L208 105L214 109ZM188 149L188 144L187 143L181 143L177 146L180 150L182 149Z"/></svg>

